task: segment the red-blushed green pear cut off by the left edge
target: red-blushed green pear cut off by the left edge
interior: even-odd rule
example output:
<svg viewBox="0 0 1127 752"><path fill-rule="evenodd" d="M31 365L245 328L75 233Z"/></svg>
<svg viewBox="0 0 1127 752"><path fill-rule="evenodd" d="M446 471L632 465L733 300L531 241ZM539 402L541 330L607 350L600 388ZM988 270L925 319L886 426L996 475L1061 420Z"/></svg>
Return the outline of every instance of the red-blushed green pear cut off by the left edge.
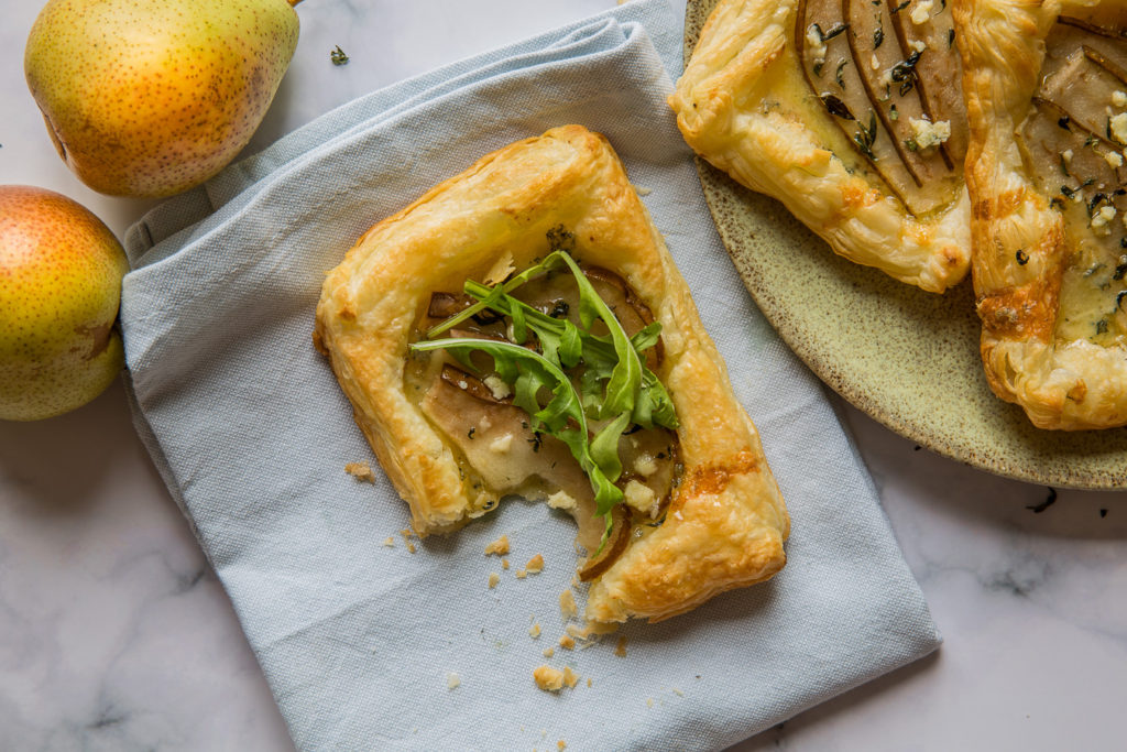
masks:
<svg viewBox="0 0 1127 752"><path fill-rule="evenodd" d="M0 186L0 419L60 415L113 382L126 268L117 238L78 202Z"/></svg>

